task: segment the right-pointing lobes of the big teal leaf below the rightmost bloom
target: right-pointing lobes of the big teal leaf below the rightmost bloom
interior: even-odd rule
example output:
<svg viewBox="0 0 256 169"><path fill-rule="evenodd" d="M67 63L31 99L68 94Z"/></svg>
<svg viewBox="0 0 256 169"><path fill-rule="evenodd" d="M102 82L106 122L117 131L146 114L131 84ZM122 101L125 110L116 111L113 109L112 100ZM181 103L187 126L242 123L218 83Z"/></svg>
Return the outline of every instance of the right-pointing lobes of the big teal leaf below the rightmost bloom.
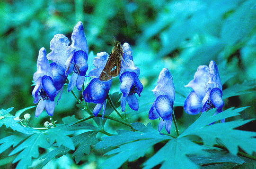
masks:
<svg viewBox="0 0 256 169"><path fill-rule="evenodd" d="M251 120L238 120L209 125L214 121L239 115L239 112L246 108L247 107L238 109L230 108L216 115L213 115L216 109L202 113L202 115L179 137L196 135L203 139L204 145L214 145L217 143L216 140L218 139L218 142L224 145L229 152L234 155L238 153L238 146L246 153L252 154L256 152L256 138L254 138L256 137L256 132L235 129Z"/></svg>

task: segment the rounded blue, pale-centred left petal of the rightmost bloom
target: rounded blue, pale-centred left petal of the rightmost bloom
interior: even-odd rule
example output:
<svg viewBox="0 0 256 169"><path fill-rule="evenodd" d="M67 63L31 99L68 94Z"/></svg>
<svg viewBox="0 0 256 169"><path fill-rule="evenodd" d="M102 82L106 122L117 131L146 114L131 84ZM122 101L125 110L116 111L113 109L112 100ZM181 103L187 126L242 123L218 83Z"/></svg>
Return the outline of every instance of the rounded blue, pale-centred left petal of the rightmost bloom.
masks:
<svg viewBox="0 0 256 169"><path fill-rule="evenodd" d="M202 99L193 90L187 96L184 103L184 110L188 114L198 114L202 110Z"/></svg>

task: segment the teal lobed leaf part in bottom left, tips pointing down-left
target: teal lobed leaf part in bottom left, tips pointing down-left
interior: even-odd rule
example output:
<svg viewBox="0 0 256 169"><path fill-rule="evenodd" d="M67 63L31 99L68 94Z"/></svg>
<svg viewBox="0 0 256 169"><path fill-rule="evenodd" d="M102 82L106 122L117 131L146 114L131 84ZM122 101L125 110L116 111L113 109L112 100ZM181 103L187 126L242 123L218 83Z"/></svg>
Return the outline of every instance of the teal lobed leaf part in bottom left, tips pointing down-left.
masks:
<svg viewBox="0 0 256 169"><path fill-rule="evenodd" d="M39 152L38 148L48 148L50 145L46 141L43 132L35 133L28 137L22 144L18 145L9 155L14 155L20 152L17 157L12 161L15 163L17 161L17 169L27 169L32 163L32 158L38 158Z"/></svg>

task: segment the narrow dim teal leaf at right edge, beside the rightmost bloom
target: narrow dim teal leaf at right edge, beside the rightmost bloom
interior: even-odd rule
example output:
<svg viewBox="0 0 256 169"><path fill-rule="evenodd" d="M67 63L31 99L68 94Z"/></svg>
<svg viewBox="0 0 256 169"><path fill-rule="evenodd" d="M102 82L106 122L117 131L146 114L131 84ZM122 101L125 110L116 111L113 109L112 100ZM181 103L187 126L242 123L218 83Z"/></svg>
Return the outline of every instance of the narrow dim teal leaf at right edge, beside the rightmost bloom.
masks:
<svg viewBox="0 0 256 169"><path fill-rule="evenodd" d="M232 96L238 96L238 95L243 95L247 93L252 93L255 91L250 91L250 89L254 89L255 84L251 84L248 82L244 82L242 84L235 84L225 90L223 90L223 99L232 97Z"/></svg>

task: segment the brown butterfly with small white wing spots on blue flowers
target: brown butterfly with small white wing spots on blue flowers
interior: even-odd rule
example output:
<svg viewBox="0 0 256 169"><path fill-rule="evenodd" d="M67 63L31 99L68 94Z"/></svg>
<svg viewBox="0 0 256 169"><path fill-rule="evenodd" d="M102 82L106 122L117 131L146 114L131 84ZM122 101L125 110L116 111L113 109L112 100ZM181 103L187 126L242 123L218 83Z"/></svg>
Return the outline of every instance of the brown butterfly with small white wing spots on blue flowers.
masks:
<svg viewBox="0 0 256 169"><path fill-rule="evenodd" d="M107 81L119 75L122 60L124 55L124 50L122 44L119 41L115 41L114 48L106 62L106 65L102 72L100 73L99 80Z"/></svg>

